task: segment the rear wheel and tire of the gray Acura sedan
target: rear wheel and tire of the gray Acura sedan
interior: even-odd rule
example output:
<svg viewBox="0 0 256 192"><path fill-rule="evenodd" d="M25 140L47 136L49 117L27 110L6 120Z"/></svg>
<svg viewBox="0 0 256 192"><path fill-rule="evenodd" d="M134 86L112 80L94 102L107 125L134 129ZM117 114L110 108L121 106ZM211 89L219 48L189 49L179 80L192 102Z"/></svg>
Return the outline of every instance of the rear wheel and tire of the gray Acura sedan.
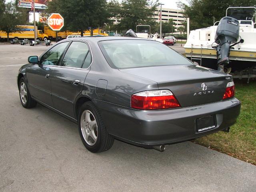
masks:
<svg viewBox="0 0 256 192"><path fill-rule="evenodd" d="M78 132L87 150L93 153L109 150L114 138L108 134L98 108L85 102L78 114Z"/></svg>

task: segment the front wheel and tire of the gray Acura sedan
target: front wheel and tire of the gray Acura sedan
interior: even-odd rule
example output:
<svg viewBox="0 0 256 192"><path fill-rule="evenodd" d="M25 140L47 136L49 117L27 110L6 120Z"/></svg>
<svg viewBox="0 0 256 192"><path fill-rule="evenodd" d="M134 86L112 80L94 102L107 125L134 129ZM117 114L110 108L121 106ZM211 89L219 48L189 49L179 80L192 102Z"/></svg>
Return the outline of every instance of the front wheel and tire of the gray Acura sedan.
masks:
<svg viewBox="0 0 256 192"><path fill-rule="evenodd" d="M19 82L19 93L20 93L20 102L24 108L33 108L36 106L37 102L32 99L30 92L28 91L28 86L25 79L20 78Z"/></svg>

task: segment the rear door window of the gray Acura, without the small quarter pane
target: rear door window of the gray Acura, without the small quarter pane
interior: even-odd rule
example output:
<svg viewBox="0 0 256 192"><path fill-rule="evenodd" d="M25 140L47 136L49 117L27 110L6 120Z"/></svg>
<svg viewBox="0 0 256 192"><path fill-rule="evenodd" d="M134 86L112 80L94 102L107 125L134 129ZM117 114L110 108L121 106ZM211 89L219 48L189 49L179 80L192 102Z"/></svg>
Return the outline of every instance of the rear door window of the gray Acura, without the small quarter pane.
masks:
<svg viewBox="0 0 256 192"><path fill-rule="evenodd" d="M90 52L86 43L74 41L69 46L62 60L61 66L82 68L88 53Z"/></svg>

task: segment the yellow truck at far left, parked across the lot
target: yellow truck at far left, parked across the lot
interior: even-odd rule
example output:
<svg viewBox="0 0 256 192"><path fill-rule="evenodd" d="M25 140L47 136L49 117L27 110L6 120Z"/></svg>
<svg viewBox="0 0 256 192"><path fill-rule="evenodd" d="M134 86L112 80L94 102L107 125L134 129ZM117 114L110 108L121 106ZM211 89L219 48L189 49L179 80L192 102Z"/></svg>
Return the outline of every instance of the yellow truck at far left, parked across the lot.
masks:
<svg viewBox="0 0 256 192"><path fill-rule="evenodd" d="M21 39L28 39L28 40L34 40L34 26L32 25L19 25L18 26L19 31L9 33L10 40L14 40L15 42L18 42ZM42 30L38 30L36 26L36 38L38 40L47 41L48 35L44 34ZM7 33L4 31L0 31L0 40L7 39Z"/></svg>

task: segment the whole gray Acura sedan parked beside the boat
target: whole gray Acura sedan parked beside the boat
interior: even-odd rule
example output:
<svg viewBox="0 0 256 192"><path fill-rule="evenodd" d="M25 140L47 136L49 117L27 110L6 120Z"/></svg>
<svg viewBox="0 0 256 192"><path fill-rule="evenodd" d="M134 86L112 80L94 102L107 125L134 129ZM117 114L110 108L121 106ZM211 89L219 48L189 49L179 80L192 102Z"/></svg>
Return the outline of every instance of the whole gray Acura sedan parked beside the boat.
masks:
<svg viewBox="0 0 256 192"><path fill-rule="evenodd" d="M232 76L154 40L80 37L58 42L18 72L24 108L40 103L78 124L91 152L118 139L165 144L228 131L240 113Z"/></svg>

